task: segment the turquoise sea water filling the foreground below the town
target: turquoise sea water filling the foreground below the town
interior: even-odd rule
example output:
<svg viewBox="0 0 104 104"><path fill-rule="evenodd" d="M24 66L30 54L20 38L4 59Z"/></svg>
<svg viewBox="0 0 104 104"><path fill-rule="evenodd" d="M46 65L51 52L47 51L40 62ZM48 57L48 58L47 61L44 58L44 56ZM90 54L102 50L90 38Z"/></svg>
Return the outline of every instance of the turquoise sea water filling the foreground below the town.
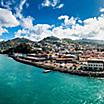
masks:
<svg viewBox="0 0 104 104"><path fill-rule="evenodd" d="M104 79L45 74L0 55L0 104L104 104Z"/></svg>

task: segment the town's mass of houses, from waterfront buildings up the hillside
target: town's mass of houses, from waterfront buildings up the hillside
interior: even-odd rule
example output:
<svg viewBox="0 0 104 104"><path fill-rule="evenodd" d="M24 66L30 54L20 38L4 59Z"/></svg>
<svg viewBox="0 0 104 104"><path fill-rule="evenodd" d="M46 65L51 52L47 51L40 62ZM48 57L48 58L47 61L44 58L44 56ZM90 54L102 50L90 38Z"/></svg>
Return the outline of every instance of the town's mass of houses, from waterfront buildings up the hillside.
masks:
<svg viewBox="0 0 104 104"><path fill-rule="evenodd" d="M26 55L15 54L15 56L25 60L31 60L32 62L62 66L66 69L104 70L104 52L100 51L96 46L75 43L71 43L70 45L58 43L49 44L48 42L44 43L44 41L37 45L39 47L34 47L37 53ZM50 48L51 50L43 51L43 47Z"/></svg>

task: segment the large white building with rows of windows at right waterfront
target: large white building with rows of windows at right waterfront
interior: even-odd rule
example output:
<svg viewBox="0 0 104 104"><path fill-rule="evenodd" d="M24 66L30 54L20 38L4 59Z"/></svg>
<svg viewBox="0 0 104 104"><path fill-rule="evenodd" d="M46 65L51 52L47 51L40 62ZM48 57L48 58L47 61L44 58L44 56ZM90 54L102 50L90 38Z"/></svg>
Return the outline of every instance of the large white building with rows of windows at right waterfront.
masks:
<svg viewBox="0 0 104 104"><path fill-rule="evenodd" d="M82 68L84 70L103 71L104 60L103 59L88 59L87 62L82 65Z"/></svg>

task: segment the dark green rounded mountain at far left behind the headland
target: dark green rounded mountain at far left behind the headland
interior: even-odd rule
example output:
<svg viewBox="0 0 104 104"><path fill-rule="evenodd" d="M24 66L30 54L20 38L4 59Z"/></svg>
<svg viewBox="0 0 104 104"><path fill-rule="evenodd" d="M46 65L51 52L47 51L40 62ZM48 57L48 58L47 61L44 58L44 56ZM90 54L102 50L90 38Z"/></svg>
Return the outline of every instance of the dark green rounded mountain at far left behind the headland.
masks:
<svg viewBox="0 0 104 104"><path fill-rule="evenodd" d="M34 42L29 39L26 39L26 38L15 38L12 40L0 42L0 49L5 50L5 49L9 49L9 48L14 48L22 43L33 44Z"/></svg>

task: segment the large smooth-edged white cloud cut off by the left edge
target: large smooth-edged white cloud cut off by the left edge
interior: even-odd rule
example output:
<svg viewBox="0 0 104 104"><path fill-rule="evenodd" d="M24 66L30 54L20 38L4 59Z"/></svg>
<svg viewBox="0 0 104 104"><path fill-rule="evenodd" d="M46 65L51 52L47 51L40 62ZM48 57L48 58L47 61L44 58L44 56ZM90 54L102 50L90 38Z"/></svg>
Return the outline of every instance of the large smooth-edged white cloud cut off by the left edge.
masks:
<svg viewBox="0 0 104 104"><path fill-rule="evenodd" d="M12 14L10 10L0 8L0 26L4 27L15 27L18 26L19 22Z"/></svg>

